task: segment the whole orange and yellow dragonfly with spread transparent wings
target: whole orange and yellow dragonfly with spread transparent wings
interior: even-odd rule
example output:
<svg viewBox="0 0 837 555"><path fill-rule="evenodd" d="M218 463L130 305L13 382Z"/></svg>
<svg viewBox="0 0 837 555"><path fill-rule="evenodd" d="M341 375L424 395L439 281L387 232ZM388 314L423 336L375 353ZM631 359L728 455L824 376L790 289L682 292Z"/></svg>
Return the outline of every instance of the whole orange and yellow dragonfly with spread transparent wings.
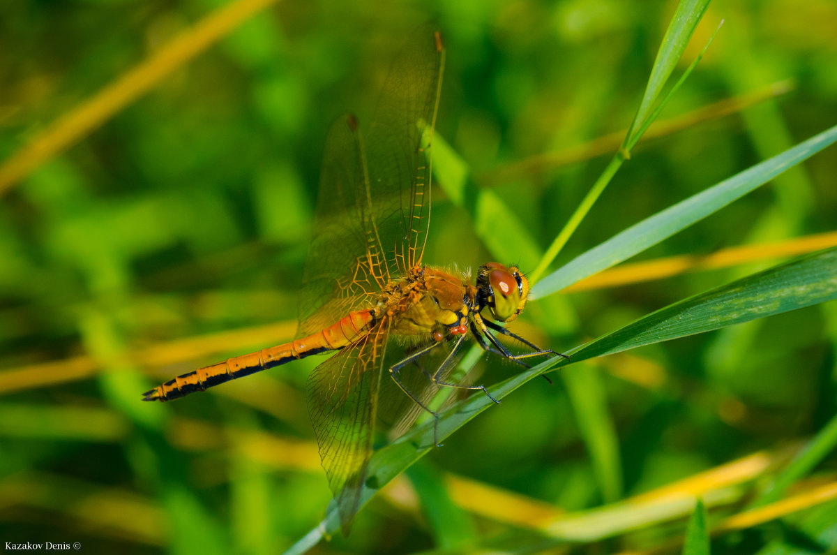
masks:
<svg viewBox="0 0 837 555"><path fill-rule="evenodd" d="M414 44L413 44L414 43ZM311 372L306 400L322 466L348 534L361 501L376 423L393 436L449 381L467 338L522 366L541 349L502 324L526 305L529 283L514 266L487 262L475 280L422 262L430 219L432 143L444 44L422 29L397 54L368 127L339 118L326 138L314 233L300 292L293 341L198 368L144 394L171 401L306 356L335 353ZM506 335L529 351L513 354ZM398 391L400 390L400 392Z"/></svg>

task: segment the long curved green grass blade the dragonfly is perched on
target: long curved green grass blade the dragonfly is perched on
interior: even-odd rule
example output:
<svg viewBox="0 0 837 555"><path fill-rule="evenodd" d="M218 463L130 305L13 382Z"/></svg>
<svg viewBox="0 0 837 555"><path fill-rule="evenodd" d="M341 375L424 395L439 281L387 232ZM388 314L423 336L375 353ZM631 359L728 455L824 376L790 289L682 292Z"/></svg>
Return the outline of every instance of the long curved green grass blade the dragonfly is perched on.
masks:
<svg viewBox="0 0 837 555"><path fill-rule="evenodd" d="M573 362L740 324L834 298L837 298L837 247L815 252L660 309L612 334L568 351L573 355L572 360L547 360L491 387L490 392L502 399L543 372ZM439 439L447 438L493 405L494 402L482 395L454 404L439 419ZM429 423L413 428L397 442L373 454L361 492L361 506L389 480L428 453L433 442L433 424ZM338 526L336 506L332 504L320 526L288 552L305 552L321 537L336 532Z"/></svg>

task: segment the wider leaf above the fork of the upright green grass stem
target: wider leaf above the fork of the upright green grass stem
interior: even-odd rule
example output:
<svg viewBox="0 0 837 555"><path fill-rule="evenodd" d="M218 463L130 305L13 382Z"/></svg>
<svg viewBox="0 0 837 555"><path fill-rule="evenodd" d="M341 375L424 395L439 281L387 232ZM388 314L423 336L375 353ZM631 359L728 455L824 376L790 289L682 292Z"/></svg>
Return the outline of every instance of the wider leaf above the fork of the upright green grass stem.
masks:
<svg viewBox="0 0 837 555"><path fill-rule="evenodd" d="M686 51L686 45L689 44L697 23L700 23L708 7L709 0L681 0L677 4L669 28L665 30L660 50L657 51L657 58L651 68L651 75L648 85L645 87L642 101L639 103L639 109L636 111L634 122L631 123L626 137L632 137L635 128L644 126L651 112L651 106L660 96L660 91L663 90L665 82L669 79L671 72L674 71L675 65L677 65L683 52Z"/></svg>

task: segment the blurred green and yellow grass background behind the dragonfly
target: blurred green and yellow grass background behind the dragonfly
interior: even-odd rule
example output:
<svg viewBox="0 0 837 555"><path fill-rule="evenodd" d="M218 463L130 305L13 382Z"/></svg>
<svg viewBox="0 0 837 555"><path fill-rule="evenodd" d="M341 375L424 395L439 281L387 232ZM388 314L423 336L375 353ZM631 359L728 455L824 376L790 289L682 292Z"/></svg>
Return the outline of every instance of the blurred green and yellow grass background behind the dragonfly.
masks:
<svg viewBox="0 0 837 555"><path fill-rule="evenodd" d="M2 3L0 161L222 4ZM627 127L674 8L285 0L14 185L0 200L0 541L271 553L311 530L331 499L304 402L319 360L166 405L141 403L141 392L292 337L326 131L347 111L368 121L393 53L420 23L438 22L447 45L437 131L545 247L608 157L501 169ZM837 121L837 4L713 3L686 64L722 18L661 117L779 81L792 90L640 144L558 263ZM833 231L835 174L832 149L642 257ZM435 198L424 262L491 259L465 212ZM755 268L569 294L572 310L551 329L526 319L514 329L568 349ZM829 303L571 366L601 396L603 423L579 416L562 381L535 381L411 478L453 473L567 511L641 493L817 433L837 400L835 342ZM489 360L480 371L490 384L516 370ZM585 425L603 434L610 453L593 459L609 468L591 464L597 448L583 441ZM818 471L834 466L832 458ZM406 493L381 495L357 516L351 537L317 549L444 546L432 511L422 516L409 482L399 487ZM804 528L794 518L804 515L713 547L757 552L785 541L786 528ZM467 537L516 530L469 511L454 521ZM574 549L654 547L675 533L658 527Z"/></svg>

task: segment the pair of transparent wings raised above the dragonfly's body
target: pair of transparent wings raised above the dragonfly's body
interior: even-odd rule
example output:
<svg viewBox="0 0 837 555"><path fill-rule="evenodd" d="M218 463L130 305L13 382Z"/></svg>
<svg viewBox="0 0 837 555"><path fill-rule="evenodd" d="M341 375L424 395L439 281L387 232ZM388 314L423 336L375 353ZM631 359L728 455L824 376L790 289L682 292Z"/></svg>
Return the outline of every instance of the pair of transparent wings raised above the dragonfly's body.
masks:
<svg viewBox="0 0 837 555"><path fill-rule="evenodd" d="M389 70L367 139L352 116L331 127L300 336L368 306L386 283L421 262L430 211L430 159L422 145L432 134L443 60L439 34L419 29Z"/></svg>

